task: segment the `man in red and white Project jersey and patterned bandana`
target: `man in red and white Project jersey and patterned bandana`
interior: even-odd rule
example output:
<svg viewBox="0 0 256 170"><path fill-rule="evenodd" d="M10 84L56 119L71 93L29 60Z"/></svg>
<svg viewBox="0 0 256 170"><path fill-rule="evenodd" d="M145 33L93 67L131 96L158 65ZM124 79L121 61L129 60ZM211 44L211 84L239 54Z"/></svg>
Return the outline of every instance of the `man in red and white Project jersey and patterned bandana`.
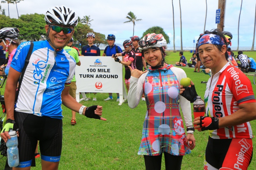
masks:
<svg viewBox="0 0 256 170"><path fill-rule="evenodd" d="M205 31L198 39L197 49L204 66L211 69L204 95L206 116L193 122L199 132L209 130L204 169L246 170L252 160L249 121L256 118L251 82L227 62L227 41L219 30ZM191 88L181 86L181 91L181 95L193 102L194 98L188 97L189 91L196 94L193 82Z"/></svg>

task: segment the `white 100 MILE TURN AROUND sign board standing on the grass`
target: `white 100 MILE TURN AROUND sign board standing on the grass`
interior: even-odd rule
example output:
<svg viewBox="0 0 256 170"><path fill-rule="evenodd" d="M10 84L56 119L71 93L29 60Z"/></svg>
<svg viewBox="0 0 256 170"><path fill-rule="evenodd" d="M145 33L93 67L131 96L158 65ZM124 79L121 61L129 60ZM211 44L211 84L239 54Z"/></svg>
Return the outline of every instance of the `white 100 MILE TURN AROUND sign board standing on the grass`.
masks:
<svg viewBox="0 0 256 170"><path fill-rule="evenodd" d="M79 56L79 58L81 65L75 68L76 93L120 93L122 99L122 64L115 62L109 56Z"/></svg>

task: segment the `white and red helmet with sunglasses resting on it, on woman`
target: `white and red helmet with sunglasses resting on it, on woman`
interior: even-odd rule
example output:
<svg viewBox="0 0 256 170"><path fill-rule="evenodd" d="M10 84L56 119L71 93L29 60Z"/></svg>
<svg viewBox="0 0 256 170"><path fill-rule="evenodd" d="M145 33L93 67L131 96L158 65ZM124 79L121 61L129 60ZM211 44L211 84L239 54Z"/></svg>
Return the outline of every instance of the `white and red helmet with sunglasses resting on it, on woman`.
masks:
<svg viewBox="0 0 256 170"><path fill-rule="evenodd" d="M164 49L167 49L167 42L162 34L147 34L141 41L139 41L139 45L141 50L146 50L152 47L163 47Z"/></svg>

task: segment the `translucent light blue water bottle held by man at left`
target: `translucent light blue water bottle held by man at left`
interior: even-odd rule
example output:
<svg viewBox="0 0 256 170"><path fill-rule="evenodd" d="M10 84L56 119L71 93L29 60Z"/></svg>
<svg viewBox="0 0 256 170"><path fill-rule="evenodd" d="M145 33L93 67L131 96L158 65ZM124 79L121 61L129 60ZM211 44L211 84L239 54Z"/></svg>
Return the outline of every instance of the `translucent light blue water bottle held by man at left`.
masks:
<svg viewBox="0 0 256 170"><path fill-rule="evenodd" d="M9 167L17 167L19 165L19 149L18 149L18 135L16 131L10 129L9 135L11 139L6 142L7 158Z"/></svg>

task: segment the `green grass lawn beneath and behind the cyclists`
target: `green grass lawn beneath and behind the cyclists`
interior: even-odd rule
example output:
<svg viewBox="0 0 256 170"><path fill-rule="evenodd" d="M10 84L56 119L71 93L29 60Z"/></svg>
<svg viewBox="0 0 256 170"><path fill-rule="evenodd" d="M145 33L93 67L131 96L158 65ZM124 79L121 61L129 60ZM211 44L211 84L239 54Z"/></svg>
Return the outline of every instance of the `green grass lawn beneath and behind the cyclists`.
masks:
<svg viewBox="0 0 256 170"><path fill-rule="evenodd" d="M103 51L101 51L103 53ZM237 52L234 52L237 54ZM249 57L256 58L256 52L244 52ZM167 63L174 64L179 61L179 53L168 52ZM189 61L192 56L190 52L184 52L184 56ZM198 95L204 96L209 75L203 72L195 73L194 68L183 67L187 77L195 83ZM252 82L253 76L248 76ZM252 83L254 92L256 85ZM143 170L144 158L137 155L141 142L143 121L146 115L146 103L140 104L131 109L127 103L121 106L114 100L104 101L108 97L107 93L98 93L97 101L81 101L85 106L103 106L103 116L107 121L88 119L77 113L77 125L71 126L71 111L62 106L63 109L63 146L59 169L61 170ZM192 108L192 104L191 104ZM192 109L193 111L193 109ZM251 121L254 135L256 134L256 121ZM208 132L194 133L196 147L190 155L183 157L182 170L203 169L204 151L208 140ZM255 138L253 144L256 146ZM39 148L40 149L40 148ZM254 155L256 155L254 149ZM6 158L0 160L0 170L4 169ZM164 158L163 158L164 161ZM36 159L36 167L31 169L41 169L41 160ZM162 169L165 169L162 162ZM256 169L256 158L254 156L249 170Z"/></svg>

